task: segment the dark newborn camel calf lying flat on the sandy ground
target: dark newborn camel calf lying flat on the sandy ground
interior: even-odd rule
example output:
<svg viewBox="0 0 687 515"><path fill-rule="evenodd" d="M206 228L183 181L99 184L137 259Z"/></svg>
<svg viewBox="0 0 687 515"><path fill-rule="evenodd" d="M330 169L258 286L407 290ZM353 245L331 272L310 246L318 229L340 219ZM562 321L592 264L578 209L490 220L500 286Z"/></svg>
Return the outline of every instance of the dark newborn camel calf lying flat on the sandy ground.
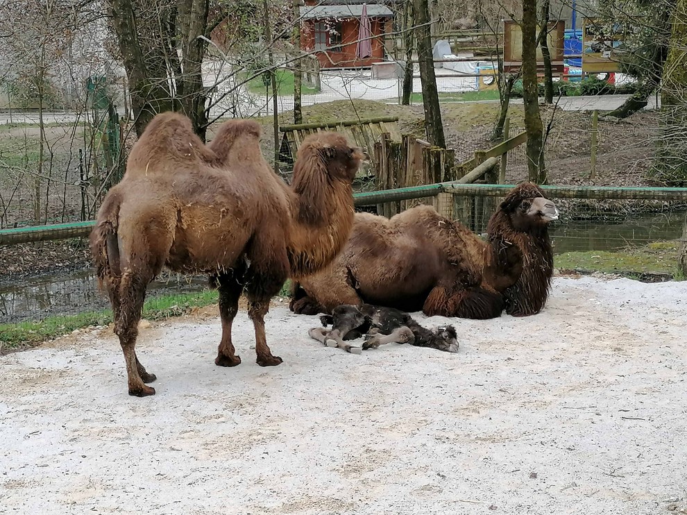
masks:
<svg viewBox="0 0 687 515"><path fill-rule="evenodd" d="M344 351L360 353L359 347L344 343L364 336L363 350L378 348L391 343L411 344L417 347L436 348L449 353L458 352L456 330L453 326L442 326L430 330L421 326L412 316L393 307L379 307L370 304L361 306L341 305L334 307L332 314L320 316L322 325L312 328L310 337L328 346L337 346Z"/></svg>

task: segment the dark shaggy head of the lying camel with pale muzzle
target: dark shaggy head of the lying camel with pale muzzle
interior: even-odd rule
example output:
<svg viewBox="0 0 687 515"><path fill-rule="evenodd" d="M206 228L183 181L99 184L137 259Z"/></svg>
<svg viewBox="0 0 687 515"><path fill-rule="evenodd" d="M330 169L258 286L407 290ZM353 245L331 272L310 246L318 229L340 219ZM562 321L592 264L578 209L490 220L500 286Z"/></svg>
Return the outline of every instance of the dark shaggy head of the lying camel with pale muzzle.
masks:
<svg viewBox="0 0 687 515"><path fill-rule="evenodd" d="M559 215L556 205L546 198L540 187L532 183L515 187L501 203L499 210L509 217L515 230L522 232L545 228Z"/></svg>

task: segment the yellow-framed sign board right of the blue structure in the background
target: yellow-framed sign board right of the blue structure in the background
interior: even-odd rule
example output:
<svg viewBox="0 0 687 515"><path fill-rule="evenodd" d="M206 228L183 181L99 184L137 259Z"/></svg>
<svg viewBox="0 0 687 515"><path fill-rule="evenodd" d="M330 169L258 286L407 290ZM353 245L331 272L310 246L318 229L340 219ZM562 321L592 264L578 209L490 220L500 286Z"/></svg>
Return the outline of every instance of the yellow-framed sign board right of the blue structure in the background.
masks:
<svg viewBox="0 0 687 515"><path fill-rule="evenodd" d="M618 47L627 30L622 24L604 23L598 18L582 20L582 71L611 73L618 68Z"/></svg>

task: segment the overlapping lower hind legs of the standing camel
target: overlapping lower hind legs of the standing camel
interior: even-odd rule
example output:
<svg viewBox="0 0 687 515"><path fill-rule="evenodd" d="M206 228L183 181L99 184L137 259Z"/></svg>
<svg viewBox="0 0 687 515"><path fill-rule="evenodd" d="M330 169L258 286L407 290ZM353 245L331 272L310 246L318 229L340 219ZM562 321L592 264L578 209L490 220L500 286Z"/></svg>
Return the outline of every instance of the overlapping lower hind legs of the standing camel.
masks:
<svg viewBox="0 0 687 515"><path fill-rule="evenodd" d="M114 321L114 332L119 336L121 351L124 353L129 395L137 397L155 395L155 389L144 383L144 381L153 382L155 375L146 372L135 351L138 323L146 298L147 284L148 281L142 276L125 271L119 286L119 309L114 308L118 312L117 319Z"/></svg>

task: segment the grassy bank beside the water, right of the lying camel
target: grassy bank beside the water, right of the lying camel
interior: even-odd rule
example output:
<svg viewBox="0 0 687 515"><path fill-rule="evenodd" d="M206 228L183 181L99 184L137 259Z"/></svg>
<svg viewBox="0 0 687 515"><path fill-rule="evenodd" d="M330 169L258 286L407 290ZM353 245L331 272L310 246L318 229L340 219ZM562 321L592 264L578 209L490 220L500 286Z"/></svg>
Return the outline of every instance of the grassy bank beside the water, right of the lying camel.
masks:
<svg viewBox="0 0 687 515"><path fill-rule="evenodd" d="M656 242L622 251L566 252L554 256L554 267L562 270L618 273L631 278L659 274L681 279L678 273L678 241Z"/></svg>

